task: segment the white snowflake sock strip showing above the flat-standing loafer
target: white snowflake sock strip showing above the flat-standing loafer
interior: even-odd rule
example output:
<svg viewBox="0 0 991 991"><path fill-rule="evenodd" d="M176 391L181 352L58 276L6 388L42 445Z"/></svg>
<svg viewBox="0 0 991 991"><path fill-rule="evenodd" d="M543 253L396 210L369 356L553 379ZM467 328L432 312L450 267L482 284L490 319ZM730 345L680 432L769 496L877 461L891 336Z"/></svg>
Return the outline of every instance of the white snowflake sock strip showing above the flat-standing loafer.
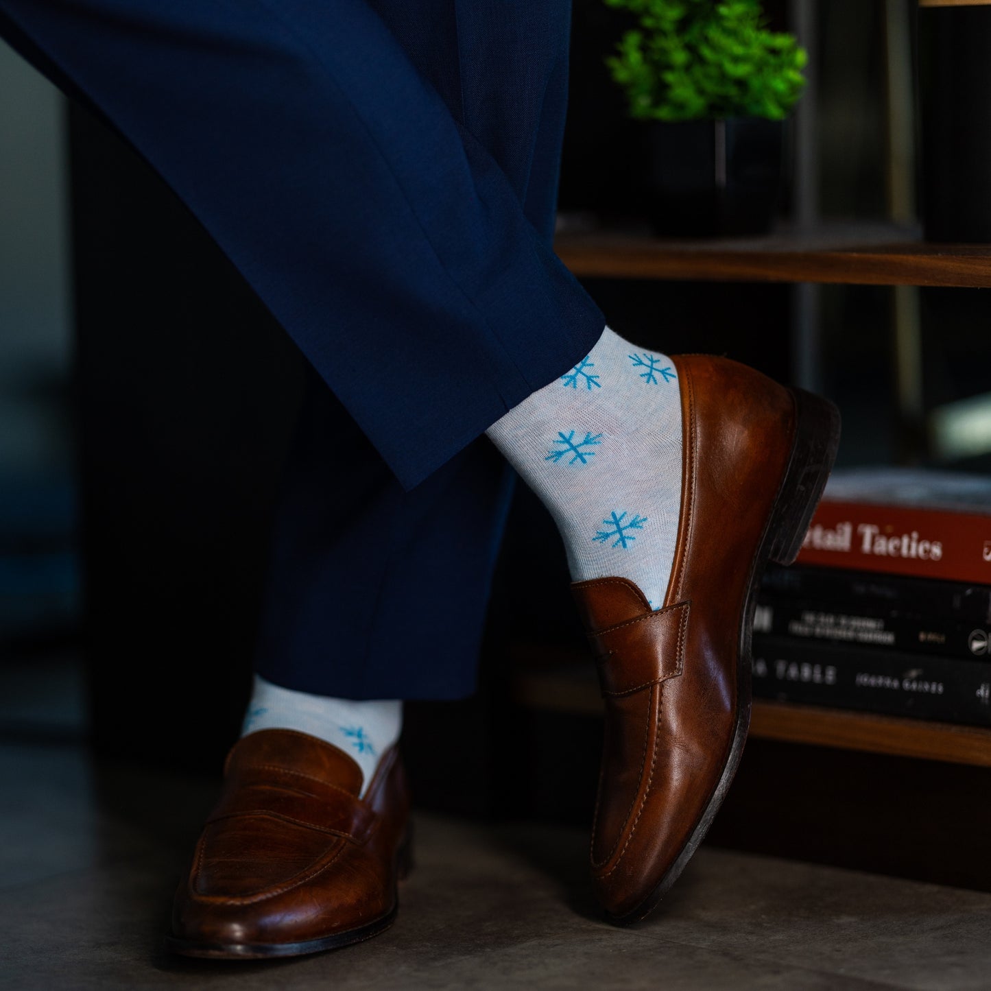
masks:
<svg viewBox="0 0 991 991"><path fill-rule="evenodd" d="M402 703L397 700L331 699L281 688L256 675L241 735L258 729L298 729L333 743L361 767L364 795L380 757L399 738L401 728Z"/></svg>

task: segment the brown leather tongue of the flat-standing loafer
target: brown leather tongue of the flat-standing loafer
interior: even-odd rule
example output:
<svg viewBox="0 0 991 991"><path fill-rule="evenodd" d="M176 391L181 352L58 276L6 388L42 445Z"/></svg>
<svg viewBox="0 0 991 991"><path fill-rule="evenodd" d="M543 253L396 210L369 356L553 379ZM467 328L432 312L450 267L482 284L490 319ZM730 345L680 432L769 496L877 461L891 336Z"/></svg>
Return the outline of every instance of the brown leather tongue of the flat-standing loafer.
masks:
<svg viewBox="0 0 991 991"><path fill-rule="evenodd" d="M365 780L362 769L343 750L295 729L260 729L242 736L227 757L224 773L260 765L305 774L356 796Z"/></svg>

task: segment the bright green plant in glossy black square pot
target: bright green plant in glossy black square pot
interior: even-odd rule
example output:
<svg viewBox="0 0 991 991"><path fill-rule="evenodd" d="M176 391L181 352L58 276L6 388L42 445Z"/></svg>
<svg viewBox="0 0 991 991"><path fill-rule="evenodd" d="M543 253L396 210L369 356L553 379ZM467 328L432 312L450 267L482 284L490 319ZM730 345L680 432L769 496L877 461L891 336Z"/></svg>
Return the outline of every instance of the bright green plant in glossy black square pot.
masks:
<svg viewBox="0 0 991 991"><path fill-rule="evenodd" d="M792 35L768 30L760 0L605 2L638 22L606 63L630 116L644 122L657 232L766 232L805 51Z"/></svg>

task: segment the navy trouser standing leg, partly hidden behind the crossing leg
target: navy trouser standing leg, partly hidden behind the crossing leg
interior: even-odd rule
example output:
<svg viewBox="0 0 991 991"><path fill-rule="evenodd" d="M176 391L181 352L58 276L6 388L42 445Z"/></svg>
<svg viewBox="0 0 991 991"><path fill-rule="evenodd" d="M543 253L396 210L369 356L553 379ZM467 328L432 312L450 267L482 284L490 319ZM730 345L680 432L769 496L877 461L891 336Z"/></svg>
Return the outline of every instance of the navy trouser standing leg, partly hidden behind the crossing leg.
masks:
<svg viewBox="0 0 991 991"><path fill-rule="evenodd" d="M549 244L569 5L377 0L374 6L452 115L502 167ZM327 437L334 438L331 456ZM483 441L403 493L340 403L315 385L278 513L259 651L263 678L348 699L468 695L509 475Z"/></svg>

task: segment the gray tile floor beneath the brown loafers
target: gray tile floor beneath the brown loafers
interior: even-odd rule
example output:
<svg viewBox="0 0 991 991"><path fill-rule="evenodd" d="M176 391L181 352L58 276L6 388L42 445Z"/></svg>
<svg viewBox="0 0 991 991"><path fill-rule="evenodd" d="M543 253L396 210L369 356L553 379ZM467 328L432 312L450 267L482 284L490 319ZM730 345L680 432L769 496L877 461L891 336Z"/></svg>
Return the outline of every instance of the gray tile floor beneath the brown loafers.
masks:
<svg viewBox="0 0 991 991"><path fill-rule="evenodd" d="M991 988L991 895L704 846L617 930L581 830L426 816L384 936L274 963L171 957L167 903L212 790L0 747L0 988Z"/></svg>

